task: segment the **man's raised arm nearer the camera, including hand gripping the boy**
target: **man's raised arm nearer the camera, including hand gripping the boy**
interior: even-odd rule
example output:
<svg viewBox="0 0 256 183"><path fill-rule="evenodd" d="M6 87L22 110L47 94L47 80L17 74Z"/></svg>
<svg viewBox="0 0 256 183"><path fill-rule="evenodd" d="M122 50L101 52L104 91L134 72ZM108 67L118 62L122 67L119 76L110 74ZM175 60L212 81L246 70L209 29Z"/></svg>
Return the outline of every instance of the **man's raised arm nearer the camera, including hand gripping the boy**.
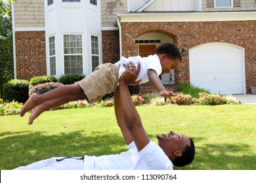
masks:
<svg viewBox="0 0 256 183"><path fill-rule="evenodd" d="M133 141L137 146L137 150L142 150L149 142L150 139L144 130L142 122L140 120L139 113L137 112L135 105L133 105L133 101L131 100L131 94L129 92L127 84L133 82L131 78L135 75L139 75L139 66L137 71L135 71L135 65L133 66L133 70L128 70L128 67L125 65L126 71L121 75L119 79L119 90L121 93L121 110L123 111L123 120Z"/></svg>

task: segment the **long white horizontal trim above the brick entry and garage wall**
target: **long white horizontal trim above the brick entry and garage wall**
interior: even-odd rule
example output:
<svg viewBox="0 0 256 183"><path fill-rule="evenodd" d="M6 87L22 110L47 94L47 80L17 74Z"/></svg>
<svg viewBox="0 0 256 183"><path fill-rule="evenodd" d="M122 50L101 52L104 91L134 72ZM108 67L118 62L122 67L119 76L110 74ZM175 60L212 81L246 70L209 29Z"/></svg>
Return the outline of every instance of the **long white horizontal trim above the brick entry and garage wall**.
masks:
<svg viewBox="0 0 256 183"><path fill-rule="evenodd" d="M215 22L256 20L256 11L248 12L150 12L117 14L120 22Z"/></svg>

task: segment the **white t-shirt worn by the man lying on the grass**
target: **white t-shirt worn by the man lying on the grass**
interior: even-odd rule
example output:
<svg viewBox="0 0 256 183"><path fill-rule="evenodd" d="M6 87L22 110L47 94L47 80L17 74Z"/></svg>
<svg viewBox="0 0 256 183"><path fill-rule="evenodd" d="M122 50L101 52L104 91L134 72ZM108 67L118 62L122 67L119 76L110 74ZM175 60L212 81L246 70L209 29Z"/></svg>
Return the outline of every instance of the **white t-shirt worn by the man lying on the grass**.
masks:
<svg viewBox="0 0 256 183"><path fill-rule="evenodd" d="M155 142L150 141L140 152L135 143L127 152L104 156L85 156L87 170L172 170L173 163Z"/></svg>

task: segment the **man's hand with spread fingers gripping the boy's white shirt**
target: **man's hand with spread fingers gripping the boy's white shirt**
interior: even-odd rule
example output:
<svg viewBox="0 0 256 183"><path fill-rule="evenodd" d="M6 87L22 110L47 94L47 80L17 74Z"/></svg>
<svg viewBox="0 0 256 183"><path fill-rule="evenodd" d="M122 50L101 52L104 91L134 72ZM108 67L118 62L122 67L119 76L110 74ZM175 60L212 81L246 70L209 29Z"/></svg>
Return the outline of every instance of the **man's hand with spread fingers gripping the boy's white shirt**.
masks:
<svg viewBox="0 0 256 183"><path fill-rule="evenodd" d="M125 67L125 72L119 78L119 82L124 82L125 84L139 84L140 80L135 82L140 73L140 63L136 70L135 65L130 61L129 65L123 65Z"/></svg>

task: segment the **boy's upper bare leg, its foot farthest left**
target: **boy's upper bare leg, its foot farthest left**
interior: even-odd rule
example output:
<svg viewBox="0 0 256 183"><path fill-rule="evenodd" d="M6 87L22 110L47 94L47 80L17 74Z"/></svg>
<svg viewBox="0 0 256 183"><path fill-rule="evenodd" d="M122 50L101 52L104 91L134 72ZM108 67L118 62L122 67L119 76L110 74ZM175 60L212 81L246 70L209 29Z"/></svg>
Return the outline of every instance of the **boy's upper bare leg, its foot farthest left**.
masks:
<svg viewBox="0 0 256 183"><path fill-rule="evenodd" d="M37 105L41 105L46 101L60 99L69 95L80 95L81 93L83 93L83 90L81 89L79 84L60 86L58 88L55 88L54 90L43 94L33 93L32 95L30 95L28 101L26 101L26 103L22 106L20 110L20 116L24 116L26 112L32 110Z"/></svg>

